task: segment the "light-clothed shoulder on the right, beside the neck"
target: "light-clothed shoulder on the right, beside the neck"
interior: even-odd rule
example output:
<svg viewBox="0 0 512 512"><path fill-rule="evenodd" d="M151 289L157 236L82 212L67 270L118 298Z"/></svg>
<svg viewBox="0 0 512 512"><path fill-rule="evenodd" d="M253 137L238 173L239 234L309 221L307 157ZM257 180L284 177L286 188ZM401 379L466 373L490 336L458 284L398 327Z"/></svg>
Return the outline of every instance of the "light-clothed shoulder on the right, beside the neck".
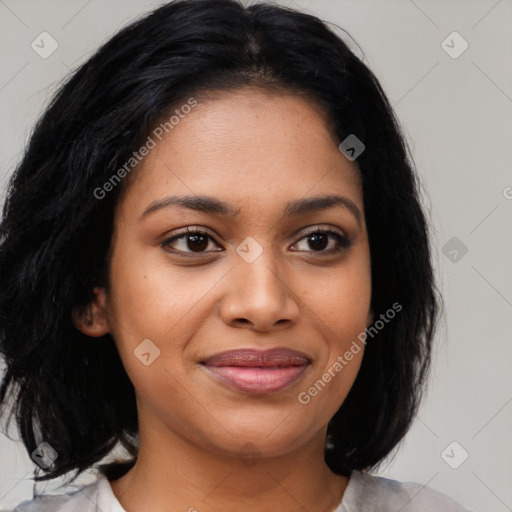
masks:
<svg viewBox="0 0 512 512"><path fill-rule="evenodd" d="M351 503L347 505L354 511L472 512L445 494L416 482L399 482L360 471L353 471L350 481ZM352 512L352 508L346 508L346 512Z"/></svg>

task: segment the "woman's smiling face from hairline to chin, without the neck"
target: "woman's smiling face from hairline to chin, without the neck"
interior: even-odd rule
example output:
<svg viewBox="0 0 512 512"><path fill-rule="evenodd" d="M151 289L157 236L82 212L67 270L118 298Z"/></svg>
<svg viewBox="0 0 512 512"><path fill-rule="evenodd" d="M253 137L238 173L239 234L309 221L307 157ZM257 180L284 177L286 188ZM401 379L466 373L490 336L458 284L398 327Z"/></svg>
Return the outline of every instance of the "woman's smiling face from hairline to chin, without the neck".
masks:
<svg viewBox="0 0 512 512"><path fill-rule="evenodd" d="M335 370L371 321L357 166L316 105L257 89L199 101L163 135L117 205L99 293L139 422L225 454L285 454L325 435L360 367L352 350ZM326 196L343 199L307 207ZM272 348L299 352L204 364Z"/></svg>

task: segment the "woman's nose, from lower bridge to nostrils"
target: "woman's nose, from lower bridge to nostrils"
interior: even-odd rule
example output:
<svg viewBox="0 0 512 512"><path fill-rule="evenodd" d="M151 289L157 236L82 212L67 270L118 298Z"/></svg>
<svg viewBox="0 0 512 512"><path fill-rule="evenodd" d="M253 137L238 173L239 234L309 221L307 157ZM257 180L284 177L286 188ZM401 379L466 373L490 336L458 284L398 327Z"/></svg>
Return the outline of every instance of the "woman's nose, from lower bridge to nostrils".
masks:
<svg viewBox="0 0 512 512"><path fill-rule="evenodd" d="M229 272L220 314L232 327L255 331L289 328L300 317L298 297L289 273L283 273L266 251L252 263L240 260Z"/></svg>

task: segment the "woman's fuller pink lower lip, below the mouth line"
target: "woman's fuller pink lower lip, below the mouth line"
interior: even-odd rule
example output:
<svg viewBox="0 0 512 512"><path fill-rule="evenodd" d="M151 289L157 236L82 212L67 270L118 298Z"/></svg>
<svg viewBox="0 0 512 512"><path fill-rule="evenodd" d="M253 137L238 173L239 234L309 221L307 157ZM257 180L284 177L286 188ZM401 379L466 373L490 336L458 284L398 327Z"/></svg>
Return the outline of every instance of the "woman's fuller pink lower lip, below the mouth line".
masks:
<svg viewBox="0 0 512 512"><path fill-rule="evenodd" d="M204 365L215 377L247 393L273 393L295 382L307 365L279 368Z"/></svg>

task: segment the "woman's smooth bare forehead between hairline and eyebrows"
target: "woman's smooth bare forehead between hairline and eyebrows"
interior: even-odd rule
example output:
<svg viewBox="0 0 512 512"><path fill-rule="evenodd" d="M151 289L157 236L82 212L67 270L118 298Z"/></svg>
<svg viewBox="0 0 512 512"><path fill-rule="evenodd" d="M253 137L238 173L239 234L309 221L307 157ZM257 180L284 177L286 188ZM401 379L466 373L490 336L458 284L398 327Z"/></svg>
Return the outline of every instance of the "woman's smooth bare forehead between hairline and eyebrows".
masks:
<svg viewBox="0 0 512 512"><path fill-rule="evenodd" d="M163 119L160 138L150 134L154 148L128 187L132 206L177 192L260 203L329 192L362 208L358 167L316 102L253 88L194 99L170 113L172 127Z"/></svg>

